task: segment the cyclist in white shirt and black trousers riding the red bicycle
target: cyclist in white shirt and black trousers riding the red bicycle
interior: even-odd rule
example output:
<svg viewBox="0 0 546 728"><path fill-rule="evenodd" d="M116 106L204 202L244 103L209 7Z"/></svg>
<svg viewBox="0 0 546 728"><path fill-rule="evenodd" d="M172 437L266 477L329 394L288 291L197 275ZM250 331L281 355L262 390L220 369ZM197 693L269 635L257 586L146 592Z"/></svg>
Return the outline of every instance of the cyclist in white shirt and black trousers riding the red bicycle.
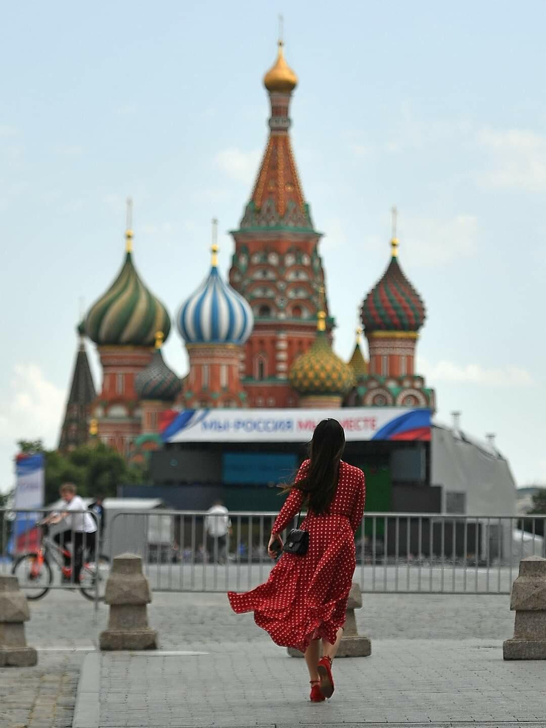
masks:
<svg viewBox="0 0 546 728"><path fill-rule="evenodd" d="M76 495L76 486L72 483L64 483L60 486L60 497L66 501L66 510L58 515L50 515L44 523L60 523L66 521L68 529L55 534L53 540L63 548L74 538L74 571L72 579L75 584L79 583L79 574L82 571L84 549L90 554L95 553L95 537L97 524L91 513L79 495ZM70 513L71 511L84 511L84 513ZM65 555L65 566L70 566L70 556ZM68 580L68 579L67 579Z"/></svg>

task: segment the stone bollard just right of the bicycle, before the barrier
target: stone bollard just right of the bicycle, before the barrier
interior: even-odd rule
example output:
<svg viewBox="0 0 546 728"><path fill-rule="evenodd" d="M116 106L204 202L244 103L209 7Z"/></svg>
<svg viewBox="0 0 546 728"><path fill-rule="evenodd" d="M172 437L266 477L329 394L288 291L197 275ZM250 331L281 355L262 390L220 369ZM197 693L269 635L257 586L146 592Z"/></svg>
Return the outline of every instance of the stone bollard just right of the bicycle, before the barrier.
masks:
<svg viewBox="0 0 546 728"><path fill-rule="evenodd" d="M146 605L151 602L142 559L132 553L114 558L104 601L110 605L108 628L100 633L100 649L157 649L157 632L149 628Z"/></svg>

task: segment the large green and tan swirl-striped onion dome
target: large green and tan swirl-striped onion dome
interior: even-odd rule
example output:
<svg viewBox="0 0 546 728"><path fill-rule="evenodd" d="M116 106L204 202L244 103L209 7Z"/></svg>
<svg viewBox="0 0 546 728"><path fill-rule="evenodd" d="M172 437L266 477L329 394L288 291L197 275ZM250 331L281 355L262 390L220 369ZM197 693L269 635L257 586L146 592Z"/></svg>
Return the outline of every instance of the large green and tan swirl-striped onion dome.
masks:
<svg viewBox="0 0 546 728"><path fill-rule="evenodd" d="M90 308L87 336L95 344L151 347L156 331L170 331L167 309L143 284L127 252L118 277Z"/></svg>

